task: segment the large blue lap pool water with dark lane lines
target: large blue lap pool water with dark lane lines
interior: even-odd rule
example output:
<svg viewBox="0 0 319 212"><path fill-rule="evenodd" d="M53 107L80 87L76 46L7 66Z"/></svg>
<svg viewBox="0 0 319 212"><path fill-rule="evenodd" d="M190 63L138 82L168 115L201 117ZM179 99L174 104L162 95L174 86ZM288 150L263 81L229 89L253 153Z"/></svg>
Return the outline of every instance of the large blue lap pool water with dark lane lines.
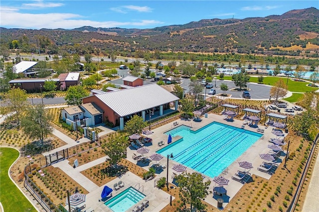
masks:
<svg viewBox="0 0 319 212"><path fill-rule="evenodd" d="M196 131L181 125L165 134L172 137L180 135L183 138L157 153L163 156L172 153L172 160L209 177L218 176L262 136L218 122L212 122Z"/></svg>

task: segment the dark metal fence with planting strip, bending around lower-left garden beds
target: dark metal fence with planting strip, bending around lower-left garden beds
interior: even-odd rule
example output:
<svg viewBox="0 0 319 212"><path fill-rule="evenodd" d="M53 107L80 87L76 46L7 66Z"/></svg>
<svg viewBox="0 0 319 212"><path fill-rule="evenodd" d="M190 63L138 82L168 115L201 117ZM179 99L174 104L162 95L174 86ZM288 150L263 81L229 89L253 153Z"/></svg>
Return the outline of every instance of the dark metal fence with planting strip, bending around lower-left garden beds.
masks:
<svg viewBox="0 0 319 212"><path fill-rule="evenodd" d="M61 212L59 208L52 203L52 201L41 191L39 187L32 181L33 174L37 172L37 167L40 169L48 167L54 163L58 163L59 161L68 159L70 157L76 156L80 153L87 152L91 149L97 148L100 146L100 142L85 142L73 146L71 148L66 148L58 152L51 153L44 157L35 159L28 163L24 167L24 187L30 192L32 197L40 204L40 206L47 212ZM33 173L32 173L33 172ZM32 176L32 177L31 177Z"/></svg>

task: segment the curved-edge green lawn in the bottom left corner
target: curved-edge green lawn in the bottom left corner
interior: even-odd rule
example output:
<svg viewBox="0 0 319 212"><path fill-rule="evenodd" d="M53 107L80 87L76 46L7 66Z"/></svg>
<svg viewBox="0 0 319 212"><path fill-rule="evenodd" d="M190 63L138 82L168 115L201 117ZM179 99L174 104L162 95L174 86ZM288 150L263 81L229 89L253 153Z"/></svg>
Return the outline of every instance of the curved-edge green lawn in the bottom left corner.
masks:
<svg viewBox="0 0 319 212"><path fill-rule="evenodd" d="M36 212L8 176L8 169L18 158L19 152L12 148L0 148L0 202L5 212Z"/></svg>

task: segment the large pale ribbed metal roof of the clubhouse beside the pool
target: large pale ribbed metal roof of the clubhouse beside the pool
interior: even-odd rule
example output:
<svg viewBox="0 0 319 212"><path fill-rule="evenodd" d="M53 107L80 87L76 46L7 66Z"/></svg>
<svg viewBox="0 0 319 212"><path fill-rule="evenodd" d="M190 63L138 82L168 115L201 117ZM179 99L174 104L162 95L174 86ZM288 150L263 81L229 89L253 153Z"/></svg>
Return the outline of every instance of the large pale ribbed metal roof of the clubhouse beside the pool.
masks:
<svg viewBox="0 0 319 212"><path fill-rule="evenodd" d="M120 117L179 100L156 83L96 94L95 97L113 109Z"/></svg>

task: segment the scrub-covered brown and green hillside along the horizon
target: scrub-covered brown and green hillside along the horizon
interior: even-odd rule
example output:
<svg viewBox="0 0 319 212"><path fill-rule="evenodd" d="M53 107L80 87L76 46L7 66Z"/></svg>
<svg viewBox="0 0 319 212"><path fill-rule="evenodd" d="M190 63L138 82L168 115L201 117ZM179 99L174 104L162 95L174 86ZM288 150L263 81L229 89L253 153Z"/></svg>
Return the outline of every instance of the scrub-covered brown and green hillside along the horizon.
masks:
<svg viewBox="0 0 319 212"><path fill-rule="evenodd" d="M109 49L112 49L121 52L158 50L298 56L303 50L308 50L311 56L318 57L318 17L319 10L311 7L291 10L282 15L202 19L153 29L83 26L72 30L2 27L0 30L1 44L22 39L23 35L35 44L36 36L41 35L49 39L47 45L42 45L43 51L53 53L64 49L72 49L80 54L87 51L93 53L96 49L110 52Z"/></svg>

